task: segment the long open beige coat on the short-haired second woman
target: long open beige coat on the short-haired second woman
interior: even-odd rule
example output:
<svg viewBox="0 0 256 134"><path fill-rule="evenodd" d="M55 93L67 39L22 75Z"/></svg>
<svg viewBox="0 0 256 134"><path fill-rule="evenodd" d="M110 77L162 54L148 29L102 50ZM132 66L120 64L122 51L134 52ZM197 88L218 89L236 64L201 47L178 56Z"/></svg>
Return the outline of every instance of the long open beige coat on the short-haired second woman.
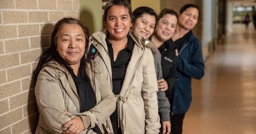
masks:
<svg viewBox="0 0 256 134"><path fill-rule="evenodd" d="M132 57L126 69L126 76L118 98L118 117L122 133L159 133L158 84L154 58L144 40L130 31L134 40ZM106 33L97 32L90 36L90 42L96 47L94 60L100 64L103 74L112 85L112 70Z"/></svg>

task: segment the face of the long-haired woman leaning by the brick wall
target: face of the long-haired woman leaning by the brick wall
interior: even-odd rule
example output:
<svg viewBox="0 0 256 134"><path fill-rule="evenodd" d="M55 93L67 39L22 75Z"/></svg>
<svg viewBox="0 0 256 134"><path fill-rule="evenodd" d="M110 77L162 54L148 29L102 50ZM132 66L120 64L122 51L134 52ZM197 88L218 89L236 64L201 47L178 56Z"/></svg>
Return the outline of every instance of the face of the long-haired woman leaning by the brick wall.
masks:
<svg viewBox="0 0 256 134"><path fill-rule="evenodd" d="M80 65L80 59L84 56L85 42L84 32L80 25L65 24L57 36L57 51L71 67Z"/></svg>

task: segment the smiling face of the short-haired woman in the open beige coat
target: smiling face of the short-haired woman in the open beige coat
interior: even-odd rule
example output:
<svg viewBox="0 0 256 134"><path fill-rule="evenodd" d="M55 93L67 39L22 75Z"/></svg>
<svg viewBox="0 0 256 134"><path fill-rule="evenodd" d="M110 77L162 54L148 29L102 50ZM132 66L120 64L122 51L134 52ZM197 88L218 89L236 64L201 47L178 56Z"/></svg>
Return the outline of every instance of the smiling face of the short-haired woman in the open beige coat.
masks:
<svg viewBox="0 0 256 134"><path fill-rule="evenodd" d="M126 7L122 5L113 5L108 9L106 15L106 27L110 34L110 40L122 40L127 38L131 26L131 17Z"/></svg>

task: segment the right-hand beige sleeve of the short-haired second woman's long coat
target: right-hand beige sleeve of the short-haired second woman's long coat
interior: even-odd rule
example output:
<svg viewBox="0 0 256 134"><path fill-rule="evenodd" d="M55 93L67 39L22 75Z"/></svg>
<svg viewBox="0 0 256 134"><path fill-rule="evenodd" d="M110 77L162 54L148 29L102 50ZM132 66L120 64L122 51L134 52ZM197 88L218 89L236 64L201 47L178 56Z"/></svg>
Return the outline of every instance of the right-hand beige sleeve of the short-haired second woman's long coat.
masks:
<svg viewBox="0 0 256 134"><path fill-rule="evenodd" d="M158 115L158 84L152 52L148 49L143 68L142 98L146 111L146 133L159 133L160 118Z"/></svg>

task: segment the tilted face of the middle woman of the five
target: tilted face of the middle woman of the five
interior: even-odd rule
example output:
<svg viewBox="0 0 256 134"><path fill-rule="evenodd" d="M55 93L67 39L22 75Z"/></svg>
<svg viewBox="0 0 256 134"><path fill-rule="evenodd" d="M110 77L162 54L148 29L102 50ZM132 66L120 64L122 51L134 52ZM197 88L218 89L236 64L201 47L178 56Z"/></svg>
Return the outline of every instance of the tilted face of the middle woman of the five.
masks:
<svg viewBox="0 0 256 134"><path fill-rule="evenodd" d="M156 17L154 15L142 14L142 17L138 17L132 25L132 30L148 39L154 33L156 26Z"/></svg>

